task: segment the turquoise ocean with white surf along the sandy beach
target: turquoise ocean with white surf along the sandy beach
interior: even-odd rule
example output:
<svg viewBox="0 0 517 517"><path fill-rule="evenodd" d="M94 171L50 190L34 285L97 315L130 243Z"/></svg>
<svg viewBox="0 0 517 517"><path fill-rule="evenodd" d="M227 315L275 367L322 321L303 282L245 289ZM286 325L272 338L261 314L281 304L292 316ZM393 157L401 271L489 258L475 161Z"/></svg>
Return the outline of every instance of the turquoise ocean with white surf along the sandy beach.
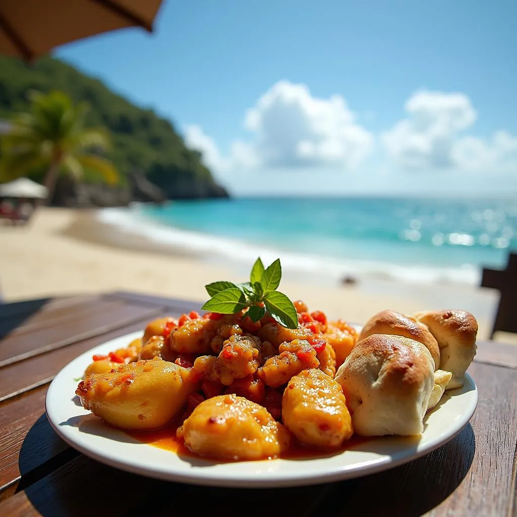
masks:
<svg viewBox="0 0 517 517"><path fill-rule="evenodd" d="M517 250L517 200L238 198L105 209L104 222L160 246L340 279L476 284Z"/></svg>

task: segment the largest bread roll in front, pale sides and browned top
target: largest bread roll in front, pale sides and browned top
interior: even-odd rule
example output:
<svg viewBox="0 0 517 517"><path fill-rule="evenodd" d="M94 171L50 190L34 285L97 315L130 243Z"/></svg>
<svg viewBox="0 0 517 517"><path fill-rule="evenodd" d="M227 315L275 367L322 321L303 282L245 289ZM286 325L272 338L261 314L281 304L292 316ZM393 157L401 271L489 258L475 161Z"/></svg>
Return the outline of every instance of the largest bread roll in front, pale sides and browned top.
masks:
<svg viewBox="0 0 517 517"><path fill-rule="evenodd" d="M361 436L417 435L434 387L434 362L422 343L373 334L359 341L336 374Z"/></svg>

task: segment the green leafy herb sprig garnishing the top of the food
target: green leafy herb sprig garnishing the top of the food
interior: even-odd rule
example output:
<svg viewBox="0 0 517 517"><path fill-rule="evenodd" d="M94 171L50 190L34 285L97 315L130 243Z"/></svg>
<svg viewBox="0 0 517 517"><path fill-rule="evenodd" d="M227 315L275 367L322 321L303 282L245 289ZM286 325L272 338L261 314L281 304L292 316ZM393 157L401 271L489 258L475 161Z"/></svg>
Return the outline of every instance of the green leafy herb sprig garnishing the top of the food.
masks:
<svg viewBox="0 0 517 517"><path fill-rule="evenodd" d="M205 285L211 298L202 309L221 314L235 314L249 307L246 315L251 321L261 320L266 311L280 325L298 328L298 314L293 302L277 291L282 278L280 259L264 268L260 257L251 269L250 281L236 284L219 281Z"/></svg>

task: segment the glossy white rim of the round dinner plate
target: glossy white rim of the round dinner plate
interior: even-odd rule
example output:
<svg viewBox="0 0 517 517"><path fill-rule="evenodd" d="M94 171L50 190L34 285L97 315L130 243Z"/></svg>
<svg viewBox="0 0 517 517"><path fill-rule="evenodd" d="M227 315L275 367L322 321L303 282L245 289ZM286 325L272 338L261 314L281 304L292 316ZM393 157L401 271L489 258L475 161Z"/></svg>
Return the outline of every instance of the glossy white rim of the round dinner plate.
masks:
<svg viewBox="0 0 517 517"><path fill-rule="evenodd" d="M359 478L363 476L367 476L370 474L382 472L384 470L388 470L405 463L409 463L410 461L414 461L422 456L429 454L433 450L441 447L442 445L448 443L450 440L454 439L459 433L463 431L463 429L468 424L469 420L474 415L478 400L479 400L479 392L474 382L474 379L468 374L465 374L465 380L467 381L464 386L468 383L471 386L470 391L473 393L470 395L473 397L468 405L468 408L465 413L461 414L458 422L454 426L454 432L447 433L442 436L440 439L431 440L431 442L425 445L421 450L416 449L409 452L407 455L402 455L397 459L391 458L388 453L381 455L378 460L368 460L362 463L354 463L352 465L341 465L341 466L331 466L326 473L314 473L311 474L310 470L300 469L298 473L290 473L288 476L285 474L275 475L271 477L252 477L242 476L239 477L229 477L229 476L221 476L218 473L210 473L207 475L206 470L185 470L183 472L178 472L174 469L164 469L157 468L155 465L146 465L145 463L136 464L134 461L131 461L131 457L124 458L120 457L119 454L112 454L109 449L98 450L97 446L87 447L84 446L81 442L74 440L64 429L59 425L59 422L54 421L52 403L55 397L54 390L57 389L57 385L62 380L63 375L66 374L66 370L71 368L72 364L77 362L80 363L83 358L90 356L97 348L100 347L108 347L112 346L111 343L115 343L121 340L130 340L134 339L134 337L138 337L141 335L141 331L134 331L124 334L123 336L118 336L108 341L104 341L99 343L98 345L88 349L84 353L75 357L71 361L69 361L59 372L55 375L54 379L50 383L47 394L45 396L45 414L51 424L51 427L57 433L57 435L62 438L70 447L75 450L80 451L85 454L87 457L92 458L100 463L103 463L108 466L112 466L115 468L119 468L121 470L125 470L126 472L131 472L133 474L145 475L155 479L162 479L167 481L175 481L193 485L203 485L203 486L226 486L231 488L275 488L275 487L285 487L285 486L304 486L304 485L313 485L313 484L323 484L332 481L345 480L345 479L353 479ZM66 381L66 378L63 379ZM453 395L452 395L453 397ZM70 399L71 400L71 399ZM51 409L49 410L49 406ZM58 418L57 420L60 420ZM112 428L113 429L113 428ZM118 432L124 432L123 430L117 430ZM425 431L424 431L425 432ZM108 440L111 438L103 437ZM375 440L382 439L383 437L373 438ZM387 437L389 439L389 437ZM135 444L137 445L137 444ZM138 444L140 445L140 444ZM147 444L142 444L147 445ZM149 447L152 447L149 445ZM155 448L158 449L158 448ZM160 449L158 449L160 450ZM350 450L350 449L347 449ZM353 449L352 449L353 450ZM172 451L163 450L164 453L172 453ZM346 452L346 450L344 451ZM344 453L343 452L343 453ZM333 458L333 457L332 457ZM316 459L316 458L314 458ZM299 463L312 461L309 460L295 460ZM264 464L267 460L260 460L258 463ZM272 461L290 461L286 460L272 460ZM240 462L241 464L252 464L257 462ZM228 465L227 463L220 463L219 465ZM215 463L217 467L217 463Z"/></svg>

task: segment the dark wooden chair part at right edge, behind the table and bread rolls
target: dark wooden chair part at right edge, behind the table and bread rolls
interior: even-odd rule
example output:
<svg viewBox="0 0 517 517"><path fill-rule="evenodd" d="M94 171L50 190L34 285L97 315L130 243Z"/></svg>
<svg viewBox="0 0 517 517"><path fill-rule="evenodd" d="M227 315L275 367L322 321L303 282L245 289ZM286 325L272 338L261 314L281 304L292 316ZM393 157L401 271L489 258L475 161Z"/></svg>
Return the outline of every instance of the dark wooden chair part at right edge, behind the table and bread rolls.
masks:
<svg viewBox="0 0 517 517"><path fill-rule="evenodd" d="M484 268L481 287L501 293L491 337L498 330L517 333L517 253L510 253L506 269Z"/></svg>

